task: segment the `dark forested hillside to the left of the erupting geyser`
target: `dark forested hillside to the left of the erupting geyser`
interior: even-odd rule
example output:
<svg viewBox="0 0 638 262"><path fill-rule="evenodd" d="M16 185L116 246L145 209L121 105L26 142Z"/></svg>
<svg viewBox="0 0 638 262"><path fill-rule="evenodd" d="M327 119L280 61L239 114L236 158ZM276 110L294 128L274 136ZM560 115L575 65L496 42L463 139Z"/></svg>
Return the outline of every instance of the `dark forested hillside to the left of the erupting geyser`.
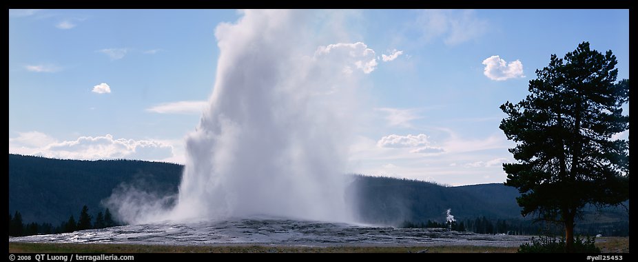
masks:
<svg viewBox="0 0 638 262"><path fill-rule="evenodd" d="M121 183L144 183L156 192L177 192L183 166L136 160L80 161L9 154L9 213L23 221L53 223L93 215Z"/></svg>

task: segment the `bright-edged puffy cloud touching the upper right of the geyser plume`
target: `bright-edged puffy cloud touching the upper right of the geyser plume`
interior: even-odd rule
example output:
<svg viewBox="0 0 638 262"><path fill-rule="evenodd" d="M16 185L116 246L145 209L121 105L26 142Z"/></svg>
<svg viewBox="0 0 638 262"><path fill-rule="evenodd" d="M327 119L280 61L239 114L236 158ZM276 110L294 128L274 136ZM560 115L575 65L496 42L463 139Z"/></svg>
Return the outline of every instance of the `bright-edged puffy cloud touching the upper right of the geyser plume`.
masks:
<svg viewBox="0 0 638 262"><path fill-rule="evenodd" d="M369 74L378 66L374 50L368 48L365 43L335 43L328 46L319 46L315 52L315 57L336 56L344 61L342 72L351 73L351 66Z"/></svg>

